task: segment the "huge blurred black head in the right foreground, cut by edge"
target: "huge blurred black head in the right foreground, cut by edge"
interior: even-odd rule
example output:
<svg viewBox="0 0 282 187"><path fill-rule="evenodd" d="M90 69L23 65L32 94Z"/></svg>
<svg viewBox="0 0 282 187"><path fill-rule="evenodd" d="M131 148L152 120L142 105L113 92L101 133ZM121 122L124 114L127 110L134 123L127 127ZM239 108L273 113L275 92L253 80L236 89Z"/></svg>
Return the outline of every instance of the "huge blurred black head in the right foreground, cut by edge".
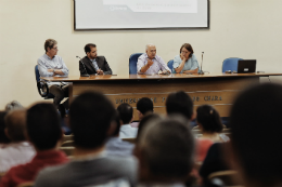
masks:
<svg viewBox="0 0 282 187"><path fill-rule="evenodd" d="M235 99L231 144L245 178L271 186L282 176L282 85L260 84Z"/></svg>

